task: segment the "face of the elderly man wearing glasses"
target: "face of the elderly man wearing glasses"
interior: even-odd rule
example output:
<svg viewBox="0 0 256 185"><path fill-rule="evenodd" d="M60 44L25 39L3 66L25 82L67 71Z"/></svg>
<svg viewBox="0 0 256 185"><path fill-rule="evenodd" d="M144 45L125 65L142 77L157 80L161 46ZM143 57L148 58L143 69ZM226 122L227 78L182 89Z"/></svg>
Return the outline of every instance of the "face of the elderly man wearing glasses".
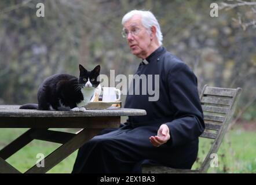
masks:
<svg viewBox="0 0 256 185"><path fill-rule="evenodd" d="M131 53L139 58L148 56L151 46L151 36L147 29L141 23L141 17L134 15L130 20L126 21L123 30L127 34L127 43Z"/></svg>

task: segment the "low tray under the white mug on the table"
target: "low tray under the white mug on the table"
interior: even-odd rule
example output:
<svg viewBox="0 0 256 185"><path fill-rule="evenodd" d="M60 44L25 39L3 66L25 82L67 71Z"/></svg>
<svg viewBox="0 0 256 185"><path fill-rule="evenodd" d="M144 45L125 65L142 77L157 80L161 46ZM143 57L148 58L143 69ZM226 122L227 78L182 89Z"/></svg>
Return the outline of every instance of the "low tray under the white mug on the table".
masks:
<svg viewBox="0 0 256 185"><path fill-rule="evenodd" d="M112 106L114 105L114 106ZM121 102L89 102L86 106L84 106L87 110L102 110L107 108L121 108Z"/></svg>

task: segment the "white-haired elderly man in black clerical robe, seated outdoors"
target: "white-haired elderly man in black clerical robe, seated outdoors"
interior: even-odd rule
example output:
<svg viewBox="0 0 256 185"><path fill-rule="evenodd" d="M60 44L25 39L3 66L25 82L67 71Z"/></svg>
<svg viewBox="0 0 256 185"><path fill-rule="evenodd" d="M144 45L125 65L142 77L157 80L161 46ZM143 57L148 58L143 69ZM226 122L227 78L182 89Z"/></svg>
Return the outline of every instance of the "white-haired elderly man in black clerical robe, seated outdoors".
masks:
<svg viewBox="0 0 256 185"><path fill-rule="evenodd" d="M131 53L142 59L136 74L159 75L159 98L129 92L125 108L145 109L147 116L130 116L120 128L89 140L79 149L73 173L140 173L142 164L190 169L204 130L196 76L161 46L151 12L132 10L122 24Z"/></svg>

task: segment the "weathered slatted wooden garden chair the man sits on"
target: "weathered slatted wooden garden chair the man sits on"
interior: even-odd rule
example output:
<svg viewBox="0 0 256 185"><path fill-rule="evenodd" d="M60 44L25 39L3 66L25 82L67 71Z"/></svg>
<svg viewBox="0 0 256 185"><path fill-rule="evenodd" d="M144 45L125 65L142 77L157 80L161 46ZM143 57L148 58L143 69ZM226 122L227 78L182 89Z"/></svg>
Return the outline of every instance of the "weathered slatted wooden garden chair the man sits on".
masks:
<svg viewBox="0 0 256 185"><path fill-rule="evenodd" d="M206 173L232 121L236 102L242 88L219 88L204 86L200 95L206 128L200 137L213 139L209 153L198 170L174 169L166 166L142 166L142 173ZM200 150L200 149L199 149Z"/></svg>

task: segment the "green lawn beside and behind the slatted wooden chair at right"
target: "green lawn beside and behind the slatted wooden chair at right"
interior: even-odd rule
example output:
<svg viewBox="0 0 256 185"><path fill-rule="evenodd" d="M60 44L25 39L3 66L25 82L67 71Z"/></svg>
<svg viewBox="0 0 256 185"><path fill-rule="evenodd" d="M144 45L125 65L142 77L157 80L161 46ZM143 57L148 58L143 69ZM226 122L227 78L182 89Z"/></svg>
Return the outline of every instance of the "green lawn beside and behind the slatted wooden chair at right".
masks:
<svg viewBox="0 0 256 185"><path fill-rule="evenodd" d="M210 139L200 138L198 169L210 149ZM210 167L208 173L256 173L256 134L241 128L231 129L218 150L218 167Z"/></svg>

